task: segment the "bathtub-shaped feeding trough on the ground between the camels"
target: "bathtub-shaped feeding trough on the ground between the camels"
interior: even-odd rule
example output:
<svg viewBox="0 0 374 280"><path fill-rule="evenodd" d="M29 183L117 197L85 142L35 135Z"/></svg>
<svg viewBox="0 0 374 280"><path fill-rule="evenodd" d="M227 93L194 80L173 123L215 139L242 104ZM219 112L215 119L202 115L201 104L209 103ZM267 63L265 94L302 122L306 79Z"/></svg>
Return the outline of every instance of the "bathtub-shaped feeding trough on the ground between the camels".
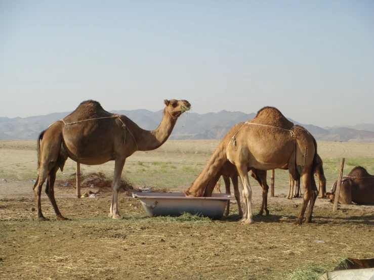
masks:
<svg viewBox="0 0 374 280"><path fill-rule="evenodd" d="M149 217L190 213L215 219L222 218L227 202L235 199L226 194L192 198L185 197L184 193L133 193L133 197L141 201Z"/></svg>

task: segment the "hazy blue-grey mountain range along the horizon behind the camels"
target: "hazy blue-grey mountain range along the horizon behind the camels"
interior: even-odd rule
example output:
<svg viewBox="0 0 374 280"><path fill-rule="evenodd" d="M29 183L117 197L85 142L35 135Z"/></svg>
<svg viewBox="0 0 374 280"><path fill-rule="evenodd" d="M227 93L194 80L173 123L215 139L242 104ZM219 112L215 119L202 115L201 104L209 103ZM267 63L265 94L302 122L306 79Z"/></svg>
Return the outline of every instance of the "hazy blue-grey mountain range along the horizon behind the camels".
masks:
<svg viewBox="0 0 374 280"><path fill-rule="evenodd" d="M151 112L144 109L110 111L128 116L140 127L151 130L157 128L162 119L162 110ZM71 112L52 113L27 118L0 117L0 139L36 139L37 135L56 120L63 119ZM174 127L170 139L222 139L236 123L253 119L256 113L220 111L218 113L185 113ZM374 124L357 124L347 127L324 127L302 124L289 119L294 124L305 127L319 141L367 142L374 143Z"/></svg>

